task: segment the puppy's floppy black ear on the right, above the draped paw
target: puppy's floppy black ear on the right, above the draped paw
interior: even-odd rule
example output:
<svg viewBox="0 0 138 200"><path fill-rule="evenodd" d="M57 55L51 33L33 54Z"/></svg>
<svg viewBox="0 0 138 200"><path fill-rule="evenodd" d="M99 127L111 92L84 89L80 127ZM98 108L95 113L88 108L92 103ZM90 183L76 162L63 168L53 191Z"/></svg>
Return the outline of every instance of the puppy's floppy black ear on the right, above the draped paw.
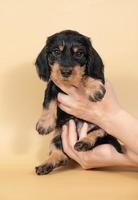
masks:
<svg viewBox="0 0 138 200"><path fill-rule="evenodd" d="M92 47L91 43L89 43L89 55L86 65L86 75L91 76L95 79L100 79L103 83L105 82L104 65L102 59L97 51Z"/></svg>

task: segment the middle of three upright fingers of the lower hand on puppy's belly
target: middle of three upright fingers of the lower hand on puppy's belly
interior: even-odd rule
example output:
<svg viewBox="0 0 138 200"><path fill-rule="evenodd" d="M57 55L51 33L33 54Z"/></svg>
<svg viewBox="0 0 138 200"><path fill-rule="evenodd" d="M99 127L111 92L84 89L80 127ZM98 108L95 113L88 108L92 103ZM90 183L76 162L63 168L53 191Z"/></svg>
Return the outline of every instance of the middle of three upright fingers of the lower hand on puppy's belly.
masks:
<svg viewBox="0 0 138 200"><path fill-rule="evenodd" d="M69 143L74 150L74 144L77 142L77 130L74 120L69 120Z"/></svg>

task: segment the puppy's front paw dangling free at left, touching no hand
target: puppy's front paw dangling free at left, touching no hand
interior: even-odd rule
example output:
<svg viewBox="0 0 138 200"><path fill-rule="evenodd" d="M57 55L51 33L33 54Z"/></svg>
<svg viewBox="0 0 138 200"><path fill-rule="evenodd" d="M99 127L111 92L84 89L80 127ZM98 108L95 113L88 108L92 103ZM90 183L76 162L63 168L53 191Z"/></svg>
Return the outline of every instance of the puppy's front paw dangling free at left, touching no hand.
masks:
<svg viewBox="0 0 138 200"><path fill-rule="evenodd" d="M36 124L36 130L40 135L49 134L54 130L54 125L49 125L47 120L40 119Z"/></svg>

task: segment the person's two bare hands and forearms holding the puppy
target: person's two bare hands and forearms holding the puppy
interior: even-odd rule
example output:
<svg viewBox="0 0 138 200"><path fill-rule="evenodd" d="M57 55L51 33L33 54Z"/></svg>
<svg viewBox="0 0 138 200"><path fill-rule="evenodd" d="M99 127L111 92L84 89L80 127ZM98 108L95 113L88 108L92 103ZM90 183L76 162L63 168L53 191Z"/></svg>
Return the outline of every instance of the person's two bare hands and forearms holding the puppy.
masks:
<svg viewBox="0 0 138 200"><path fill-rule="evenodd" d="M84 169L106 166L138 167L138 120L127 113L118 103L111 84L106 81L106 94L100 102L91 102L82 86L67 88L53 80L66 94L58 94L58 106L75 117L92 122L118 138L122 143L123 154L118 153L110 144L103 144L91 151L78 152L74 149L78 141L76 125L73 120L63 126L62 142L66 154ZM80 131L80 138L87 135L87 123Z"/></svg>

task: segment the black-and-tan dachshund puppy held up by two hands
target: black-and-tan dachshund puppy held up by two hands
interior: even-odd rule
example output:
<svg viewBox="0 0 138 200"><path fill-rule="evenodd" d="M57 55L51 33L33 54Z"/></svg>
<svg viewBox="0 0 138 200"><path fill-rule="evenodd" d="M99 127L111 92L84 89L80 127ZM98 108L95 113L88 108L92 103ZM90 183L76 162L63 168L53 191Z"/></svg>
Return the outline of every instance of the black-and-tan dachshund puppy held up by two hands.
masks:
<svg viewBox="0 0 138 200"><path fill-rule="evenodd" d="M61 81L67 87L82 84L90 101L100 101L105 94L104 65L92 47L90 39L76 31L65 30L48 37L46 45L36 59L39 77L46 81L43 113L36 130L40 135L54 132L50 145L49 159L36 167L38 175L51 172L54 168L66 165L69 157L62 148L62 126L74 119L79 135L83 120L69 115L57 106L57 94L61 91L52 78ZM99 144L110 143L118 152L121 146L113 136L100 127L89 123L87 137L79 140L74 148L77 151L88 151Z"/></svg>

